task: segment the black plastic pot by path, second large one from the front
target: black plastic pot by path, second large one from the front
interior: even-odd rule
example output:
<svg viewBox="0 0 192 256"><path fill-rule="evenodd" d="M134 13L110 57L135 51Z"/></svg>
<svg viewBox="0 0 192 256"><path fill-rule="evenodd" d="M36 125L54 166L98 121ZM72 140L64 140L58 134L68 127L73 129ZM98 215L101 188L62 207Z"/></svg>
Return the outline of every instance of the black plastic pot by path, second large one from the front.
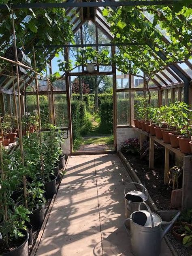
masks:
<svg viewBox="0 0 192 256"><path fill-rule="evenodd" d="M30 224L33 226L34 231L38 228L41 228L41 225L43 224L43 220L45 218L45 205L32 211L32 214L29 215L29 218Z"/></svg>

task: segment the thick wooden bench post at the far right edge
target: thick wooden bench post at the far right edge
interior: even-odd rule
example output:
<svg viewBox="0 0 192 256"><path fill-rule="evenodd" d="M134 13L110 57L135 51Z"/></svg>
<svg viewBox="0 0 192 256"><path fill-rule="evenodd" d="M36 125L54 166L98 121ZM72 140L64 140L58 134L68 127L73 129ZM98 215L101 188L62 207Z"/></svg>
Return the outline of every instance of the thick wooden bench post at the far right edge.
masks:
<svg viewBox="0 0 192 256"><path fill-rule="evenodd" d="M182 208L192 208L192 157L183 157L183 194Z"/></svg>

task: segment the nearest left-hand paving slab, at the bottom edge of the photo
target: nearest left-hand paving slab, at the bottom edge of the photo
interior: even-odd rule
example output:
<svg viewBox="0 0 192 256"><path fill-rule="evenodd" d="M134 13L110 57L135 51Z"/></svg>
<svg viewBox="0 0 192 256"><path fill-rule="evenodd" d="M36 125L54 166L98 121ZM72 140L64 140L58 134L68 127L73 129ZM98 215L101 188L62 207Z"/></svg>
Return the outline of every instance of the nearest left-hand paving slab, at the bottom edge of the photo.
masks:
<svg viewBox="0 0 192 256"><path fill-rule="evenodd" d="M43 237L36 256L102 256L101 234Z"/></svg>

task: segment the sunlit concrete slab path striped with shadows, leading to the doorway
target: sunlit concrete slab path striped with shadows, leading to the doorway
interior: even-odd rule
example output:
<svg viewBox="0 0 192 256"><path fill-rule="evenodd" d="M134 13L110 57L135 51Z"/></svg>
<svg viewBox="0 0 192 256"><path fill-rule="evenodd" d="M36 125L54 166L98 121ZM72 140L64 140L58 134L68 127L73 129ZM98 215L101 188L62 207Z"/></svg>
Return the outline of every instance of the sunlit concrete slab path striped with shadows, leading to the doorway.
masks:
<svg viewBox="0 0 192 256"><path fill-rule="evenodd" d="M36 256L132 256L124 229L130 181L115 154L71 157ZM161 256L172 256L162 245Z"/></svg>

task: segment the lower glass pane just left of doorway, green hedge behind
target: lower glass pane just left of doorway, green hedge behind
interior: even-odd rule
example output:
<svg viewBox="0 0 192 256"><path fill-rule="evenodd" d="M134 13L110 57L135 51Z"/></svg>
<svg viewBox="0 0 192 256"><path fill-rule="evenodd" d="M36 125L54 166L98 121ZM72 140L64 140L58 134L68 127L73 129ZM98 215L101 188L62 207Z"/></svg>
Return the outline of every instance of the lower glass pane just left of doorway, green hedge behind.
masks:
<svg viewBox="0 0 192 256"><path fill-rule="evenodd" d="M68 109L66 94L54 94L55 126L68 127Z"/></svg>

